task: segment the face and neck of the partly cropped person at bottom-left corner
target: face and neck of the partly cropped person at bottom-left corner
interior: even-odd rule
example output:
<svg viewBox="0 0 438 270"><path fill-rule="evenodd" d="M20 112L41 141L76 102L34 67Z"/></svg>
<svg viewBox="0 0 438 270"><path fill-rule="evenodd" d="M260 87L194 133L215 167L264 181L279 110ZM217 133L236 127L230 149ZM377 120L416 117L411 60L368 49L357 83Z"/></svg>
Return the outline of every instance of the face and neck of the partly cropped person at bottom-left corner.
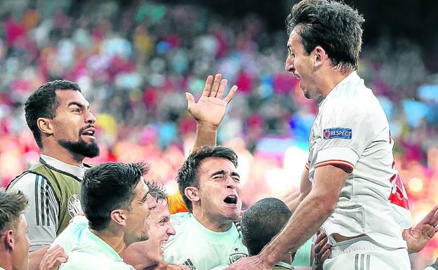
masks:
<svg viewBox="0 0 438 270"><path fill-rule="evenodd" d="M27 222L25 215L20 215L20 223L18 230L14 231L15 245L13 247L13 265L17 270L27 270L29 260L27 255L29 253L30 241L27 238Z"/></svg>

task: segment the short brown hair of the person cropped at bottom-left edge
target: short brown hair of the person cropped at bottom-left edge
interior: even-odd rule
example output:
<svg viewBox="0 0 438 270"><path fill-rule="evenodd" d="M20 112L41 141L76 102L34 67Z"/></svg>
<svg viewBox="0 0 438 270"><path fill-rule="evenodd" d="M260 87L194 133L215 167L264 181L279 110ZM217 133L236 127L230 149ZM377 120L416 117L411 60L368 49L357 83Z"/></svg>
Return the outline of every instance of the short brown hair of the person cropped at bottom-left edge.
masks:
<svg viewBox="0 0 438 270"><path fill-rule="evenodd" d="M7 229L17 229L20 215L28 204L27 196L19 190L0 188L0 234Z"/></svg>

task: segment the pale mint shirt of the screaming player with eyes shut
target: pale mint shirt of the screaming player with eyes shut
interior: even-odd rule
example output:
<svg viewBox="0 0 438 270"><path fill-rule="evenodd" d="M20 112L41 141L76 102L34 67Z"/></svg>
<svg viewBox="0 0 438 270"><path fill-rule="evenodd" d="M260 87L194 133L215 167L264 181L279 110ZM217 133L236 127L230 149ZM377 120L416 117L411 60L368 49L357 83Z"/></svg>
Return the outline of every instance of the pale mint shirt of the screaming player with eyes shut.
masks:
<svg viewBox="0 0 438 270"><path fill-rule="evenodd" d="M233 223L224 232L211 231L190 212L172 215L171 223L176 234L169 238L163 256L170 264L185 264L192 270L208 270L248 256L239 225Z"/></svg>

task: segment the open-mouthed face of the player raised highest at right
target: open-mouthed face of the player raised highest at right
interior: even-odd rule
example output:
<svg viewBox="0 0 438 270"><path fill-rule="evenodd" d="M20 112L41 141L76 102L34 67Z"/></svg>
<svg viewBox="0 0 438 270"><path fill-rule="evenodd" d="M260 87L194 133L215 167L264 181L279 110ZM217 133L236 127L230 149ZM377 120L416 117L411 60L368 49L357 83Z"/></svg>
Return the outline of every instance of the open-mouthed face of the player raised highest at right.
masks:
<svg viewBox="0 0 438 270"><path fill-rule="evenodd" d="M303 47L300 34L293 29L289 36L288 57L284 69L293 73L300 80L300 88L303 89L306 98L314 98L317 95L316 85L313 76L312 53L307 55Z"/></svg>

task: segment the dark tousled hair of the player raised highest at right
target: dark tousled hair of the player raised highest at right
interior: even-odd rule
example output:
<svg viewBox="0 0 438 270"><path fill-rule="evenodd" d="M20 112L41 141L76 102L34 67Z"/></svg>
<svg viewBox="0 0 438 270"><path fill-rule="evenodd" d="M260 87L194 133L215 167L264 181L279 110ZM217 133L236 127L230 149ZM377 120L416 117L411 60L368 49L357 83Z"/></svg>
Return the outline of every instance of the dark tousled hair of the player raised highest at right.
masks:
<svg viewBox="0 0 438 270"><path fill-rule="evenodd" d="M303 0L293 5L286 19L286 29L288 35L296 29L307 54L321 46L335 67L348 71L357 69L364 21L357 10L346 4Z"/></svg>

